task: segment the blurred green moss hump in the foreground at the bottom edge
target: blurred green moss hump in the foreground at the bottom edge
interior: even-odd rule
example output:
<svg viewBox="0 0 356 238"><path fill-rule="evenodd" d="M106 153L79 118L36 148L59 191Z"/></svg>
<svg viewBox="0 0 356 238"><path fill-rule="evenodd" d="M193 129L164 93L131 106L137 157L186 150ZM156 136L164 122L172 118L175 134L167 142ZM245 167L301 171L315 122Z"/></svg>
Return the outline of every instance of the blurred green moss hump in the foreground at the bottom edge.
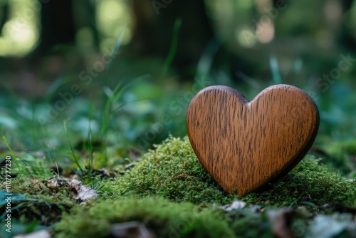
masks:
<svg viewBox="0 0 356 238"><path fill-rule="evenodd" d="M234 237L220 211L189 202L127 197L75 207L56 224L58 237L108 237L111 224L138 221L156 237Z"/></svg>

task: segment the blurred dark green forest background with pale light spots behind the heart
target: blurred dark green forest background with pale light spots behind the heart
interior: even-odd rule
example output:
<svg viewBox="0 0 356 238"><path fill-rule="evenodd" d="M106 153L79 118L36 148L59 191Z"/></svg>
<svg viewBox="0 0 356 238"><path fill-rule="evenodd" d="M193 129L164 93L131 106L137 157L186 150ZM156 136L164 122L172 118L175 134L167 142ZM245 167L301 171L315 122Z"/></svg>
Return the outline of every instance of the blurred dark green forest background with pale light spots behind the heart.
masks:
<svg viewBox="0 0 356 238"><path fill-rule="evenodd" d="M318 104L317 143L347 140L355 64L350 0L0 0L0 133L54 152L68 120L75 146L90 133L125 156L186 135L201 88L287 83Z"/></svg>

